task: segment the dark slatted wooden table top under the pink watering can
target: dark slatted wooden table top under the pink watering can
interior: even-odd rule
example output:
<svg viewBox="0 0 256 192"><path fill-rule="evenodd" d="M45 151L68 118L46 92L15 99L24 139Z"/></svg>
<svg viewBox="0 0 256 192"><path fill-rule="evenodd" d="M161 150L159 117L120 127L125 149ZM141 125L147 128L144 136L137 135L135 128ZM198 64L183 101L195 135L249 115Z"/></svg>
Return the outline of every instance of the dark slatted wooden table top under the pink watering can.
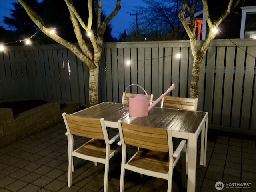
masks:
<svg viewBox="0 0 256 192"><path fill-rule="evenodd" d="M105 121L128 122L139 126L172 129L179 132L195 133L207 112L176 110L154 107L148 116L129 119L129 106L127 104L103 102L93 107L81 110L73 115L88 118L104 118Z"/></svg>

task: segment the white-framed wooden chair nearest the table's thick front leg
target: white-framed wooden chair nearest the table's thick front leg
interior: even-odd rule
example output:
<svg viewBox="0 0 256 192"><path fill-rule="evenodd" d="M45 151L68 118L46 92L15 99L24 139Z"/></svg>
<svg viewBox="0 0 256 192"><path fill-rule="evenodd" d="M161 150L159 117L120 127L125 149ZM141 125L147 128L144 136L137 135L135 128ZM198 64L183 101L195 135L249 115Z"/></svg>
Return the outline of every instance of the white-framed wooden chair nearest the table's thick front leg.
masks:
<svg viewBox="0 0 256 192"><path fill-rule="evenodd" d="M137 126L118 121L122 162L120 192L124 191L124 172L130 170L139 174L168 180L168 192L172 190L173 168L182 154L182 169L186 170L186 140L182 140L173 151L172 132L166 129ZM126 162L126 144L138 147L138 151ZM182 180L186 172L182 171ZM186 182L182 182L185 188Z"/></svg>

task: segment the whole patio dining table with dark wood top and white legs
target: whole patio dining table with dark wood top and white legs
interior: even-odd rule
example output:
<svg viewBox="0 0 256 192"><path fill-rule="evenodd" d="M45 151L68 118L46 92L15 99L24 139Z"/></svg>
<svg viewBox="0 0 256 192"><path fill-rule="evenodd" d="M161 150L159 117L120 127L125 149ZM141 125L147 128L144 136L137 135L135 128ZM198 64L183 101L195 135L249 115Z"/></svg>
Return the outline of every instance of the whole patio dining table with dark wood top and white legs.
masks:
<svg viewBox="0 0 256 192"><path fill-rule="evenodd" d="M118 128L118 120L140 126L171 129L175 138L186 139L187 147L187 190L196 190L196 154L197 140L201 133L200 165L206 166L206 144L208 112L177 110L154 107L145 117L129 116L127 104L102 102L80 110L72 115L88 118L104 118L107 127Z"/></svg>

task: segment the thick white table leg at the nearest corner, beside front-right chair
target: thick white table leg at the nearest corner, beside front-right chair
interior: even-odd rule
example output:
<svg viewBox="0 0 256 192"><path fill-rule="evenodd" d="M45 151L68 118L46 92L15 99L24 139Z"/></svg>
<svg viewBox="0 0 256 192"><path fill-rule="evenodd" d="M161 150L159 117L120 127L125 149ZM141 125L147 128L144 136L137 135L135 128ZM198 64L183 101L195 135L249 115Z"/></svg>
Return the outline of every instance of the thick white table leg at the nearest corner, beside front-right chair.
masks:
<svg viewBox="0 0 256 192"><path fill-rule="evenodd" d="M189 135L188 142L188 191L196 191L196 153L197 153L197 136Z"/></svg>

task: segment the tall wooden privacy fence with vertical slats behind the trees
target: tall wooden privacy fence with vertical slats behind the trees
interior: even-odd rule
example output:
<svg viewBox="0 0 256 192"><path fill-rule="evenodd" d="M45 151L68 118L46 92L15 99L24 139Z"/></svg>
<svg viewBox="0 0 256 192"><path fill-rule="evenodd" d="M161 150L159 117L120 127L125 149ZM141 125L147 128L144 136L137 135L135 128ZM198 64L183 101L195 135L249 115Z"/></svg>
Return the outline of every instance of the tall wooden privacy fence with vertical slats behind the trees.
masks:
<svg viewBox="0 0 256 192"><path fill-rule="evenodd" d="M198 110L209 112L210 127L256 135L255 56L256 40L210 44L198 98ZM1 52L0 62L1 102L42 99L88 106L88 68L63 46L11 46ZM106 43L99 101L121 102L130 84L139 84L156 99L175 83L168 95L190 97L192 64L189 41ZM128 92L143 93L136 86Z"/></svg>

